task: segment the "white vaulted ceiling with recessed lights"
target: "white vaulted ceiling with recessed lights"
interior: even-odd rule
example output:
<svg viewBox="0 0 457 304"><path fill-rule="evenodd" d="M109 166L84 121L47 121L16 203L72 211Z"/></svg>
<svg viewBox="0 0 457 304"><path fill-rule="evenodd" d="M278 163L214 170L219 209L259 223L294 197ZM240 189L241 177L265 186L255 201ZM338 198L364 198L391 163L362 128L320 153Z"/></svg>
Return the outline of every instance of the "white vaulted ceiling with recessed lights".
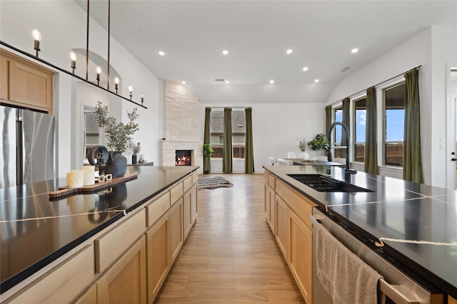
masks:
<svg viewBox="0 0 457 304"><path fill-rule="evenodd" d="M107 7L90 1L104 28ZM441 23L456 26L456 1L111 0L110 31L202 103L325 103L338 81Z"/></svg>

